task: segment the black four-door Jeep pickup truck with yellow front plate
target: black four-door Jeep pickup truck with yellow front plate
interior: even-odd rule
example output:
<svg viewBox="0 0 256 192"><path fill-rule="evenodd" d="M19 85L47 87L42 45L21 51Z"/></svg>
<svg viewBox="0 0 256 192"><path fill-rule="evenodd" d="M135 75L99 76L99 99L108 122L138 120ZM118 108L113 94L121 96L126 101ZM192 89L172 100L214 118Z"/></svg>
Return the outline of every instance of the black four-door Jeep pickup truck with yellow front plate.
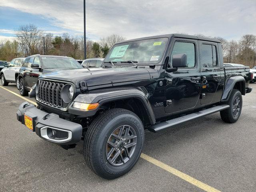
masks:
<svg viewBox="0 0 256 192"><path fill-rule="evenodd" d="M220 112L234 123L252 91L249 67L223 66L220 41L169 34L115 44L95 70L39 77L17 119L44 140L73 148L84 142L88 166L114 179L136 164L144 130L158 132Z"/></svg>

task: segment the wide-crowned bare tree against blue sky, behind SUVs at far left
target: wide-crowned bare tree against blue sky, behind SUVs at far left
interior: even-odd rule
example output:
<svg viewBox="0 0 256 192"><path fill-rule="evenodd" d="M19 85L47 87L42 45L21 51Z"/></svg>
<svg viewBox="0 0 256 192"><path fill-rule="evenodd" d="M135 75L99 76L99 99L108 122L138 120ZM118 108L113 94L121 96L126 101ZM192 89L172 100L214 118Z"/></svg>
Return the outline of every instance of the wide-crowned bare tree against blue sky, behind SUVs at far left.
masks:
<svg viewBox="0 0 256 192"><path fill-rule="evenodd" d="M21 25L15 30L15 33L25 56L39 53L44 35L42 30L38 29L34 24L29 24Z"/></svg>

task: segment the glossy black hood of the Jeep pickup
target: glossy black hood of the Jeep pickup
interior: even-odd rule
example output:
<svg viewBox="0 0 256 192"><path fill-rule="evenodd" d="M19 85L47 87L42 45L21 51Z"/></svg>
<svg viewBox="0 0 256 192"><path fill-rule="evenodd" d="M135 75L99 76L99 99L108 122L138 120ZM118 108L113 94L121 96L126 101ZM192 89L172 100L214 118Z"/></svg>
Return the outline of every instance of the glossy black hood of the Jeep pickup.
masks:
<svg viewBox="0 0 256 192"><path fill-rule="evenodd" d="M61 70L48 74L43 74L40 76L40 78L73 82L76 88L78 88L79 83L82 80L84 80L87 86L90 87L120 82L148 80L150 79L150 74L148 70L144 68L83 68L73 70Z"/></svg>

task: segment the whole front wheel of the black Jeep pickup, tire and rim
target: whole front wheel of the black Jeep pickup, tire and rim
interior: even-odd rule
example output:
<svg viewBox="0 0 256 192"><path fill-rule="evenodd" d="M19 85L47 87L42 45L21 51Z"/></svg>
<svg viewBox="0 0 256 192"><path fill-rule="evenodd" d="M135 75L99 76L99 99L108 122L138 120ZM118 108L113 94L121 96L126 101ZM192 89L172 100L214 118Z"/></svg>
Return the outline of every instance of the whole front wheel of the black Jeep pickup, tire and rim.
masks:
<svg viewBox="0 0 256 192"><path fill-rule="evenodd" d="M98 176L114 179L129 172L138 161L144 143L144 127L136 114L110 109L89 126L84 158Z"/></svg>

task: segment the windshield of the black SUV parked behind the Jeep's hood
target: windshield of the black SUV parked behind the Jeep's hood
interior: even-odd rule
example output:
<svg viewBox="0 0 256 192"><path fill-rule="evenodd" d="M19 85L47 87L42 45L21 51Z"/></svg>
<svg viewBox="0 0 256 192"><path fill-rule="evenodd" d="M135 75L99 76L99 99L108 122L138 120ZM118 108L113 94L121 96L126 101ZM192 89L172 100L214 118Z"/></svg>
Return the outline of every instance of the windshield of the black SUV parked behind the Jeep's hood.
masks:
<svg viewBox="0 0 256 192"><path fill-rule="evenodd" d="M45 69L50 68L83 68L75 59L69 57L41 57Z"/></svg>

